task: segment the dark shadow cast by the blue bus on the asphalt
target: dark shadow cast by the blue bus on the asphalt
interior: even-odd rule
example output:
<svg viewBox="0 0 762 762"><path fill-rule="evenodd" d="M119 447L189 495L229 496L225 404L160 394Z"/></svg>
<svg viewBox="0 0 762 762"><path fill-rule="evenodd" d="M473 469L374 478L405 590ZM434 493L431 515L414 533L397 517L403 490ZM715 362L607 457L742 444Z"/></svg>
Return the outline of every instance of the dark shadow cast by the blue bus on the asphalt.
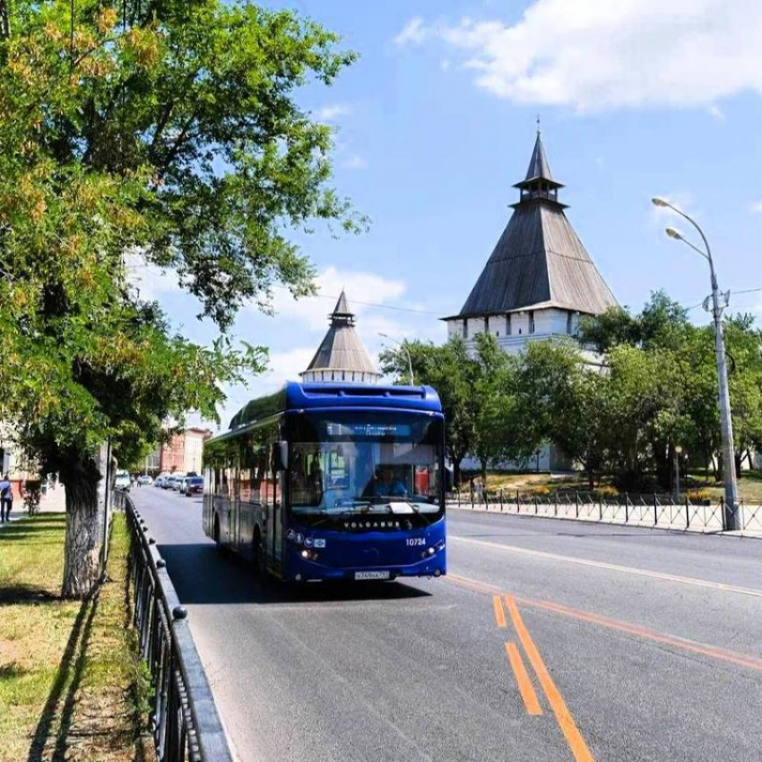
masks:
<svg viewBox="0 0 762 762"><path fill-rule="evenodd" d="M183 603L312 603L426 598L431 593L400 582L291 585L261 580L254 567L211 542L157 544Z"/></svg>

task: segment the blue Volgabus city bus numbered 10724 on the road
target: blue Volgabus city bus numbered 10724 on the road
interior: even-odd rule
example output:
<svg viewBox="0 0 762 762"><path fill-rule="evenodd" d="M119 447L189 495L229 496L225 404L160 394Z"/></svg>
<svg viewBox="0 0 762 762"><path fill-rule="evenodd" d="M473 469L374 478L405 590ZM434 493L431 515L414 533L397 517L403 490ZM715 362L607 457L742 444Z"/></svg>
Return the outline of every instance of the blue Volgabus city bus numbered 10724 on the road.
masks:
<svg viewBox="0 0 762 762"><path fill-rule="evenodd" d="M444 444L428 386L289 383L204 444L204 532L289 582L444 575Z"/></svg>

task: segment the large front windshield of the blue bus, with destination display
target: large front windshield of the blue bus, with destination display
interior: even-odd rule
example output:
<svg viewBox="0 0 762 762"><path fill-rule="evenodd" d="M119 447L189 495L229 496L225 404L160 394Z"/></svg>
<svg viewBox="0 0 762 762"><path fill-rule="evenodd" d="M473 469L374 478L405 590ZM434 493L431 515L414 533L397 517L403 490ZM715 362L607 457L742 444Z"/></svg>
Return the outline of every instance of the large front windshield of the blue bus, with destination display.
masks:
<svg viewBox="0 0 762 762"><path fill-rule="evenodd" d="M291 513L388 514L430 522L440 511L442 439L442 420L428 415L347 411L295 416Z"/></svg>

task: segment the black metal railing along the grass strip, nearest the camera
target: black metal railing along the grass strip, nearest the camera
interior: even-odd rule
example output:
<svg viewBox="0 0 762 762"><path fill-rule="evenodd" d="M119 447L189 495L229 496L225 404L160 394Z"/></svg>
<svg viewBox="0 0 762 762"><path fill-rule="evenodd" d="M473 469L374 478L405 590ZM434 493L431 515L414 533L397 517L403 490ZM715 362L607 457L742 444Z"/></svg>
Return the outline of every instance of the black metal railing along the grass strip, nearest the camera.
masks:
<svg viewBox="0 0 762 762"><path fill-rule="evenodd" d="M130 531L129 573L140 654L151 671L152 732L161 762L232 762L187 622L148 527L126 493L117 493Z"/></svg>

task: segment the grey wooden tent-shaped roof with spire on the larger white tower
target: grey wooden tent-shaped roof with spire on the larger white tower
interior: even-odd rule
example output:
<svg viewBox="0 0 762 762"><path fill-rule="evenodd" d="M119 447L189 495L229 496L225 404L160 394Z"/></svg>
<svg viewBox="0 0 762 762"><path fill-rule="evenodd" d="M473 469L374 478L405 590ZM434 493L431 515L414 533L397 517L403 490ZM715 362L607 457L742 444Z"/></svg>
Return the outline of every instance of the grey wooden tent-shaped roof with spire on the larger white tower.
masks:
<svg viewBox="0 0 762 762"><path fill-rule="evenodd" d="M558 201L540 135L521 201L457 316L477 317L534 307L599 315L617 304ZM446 318L452 319L452 318Z"/></svg>

